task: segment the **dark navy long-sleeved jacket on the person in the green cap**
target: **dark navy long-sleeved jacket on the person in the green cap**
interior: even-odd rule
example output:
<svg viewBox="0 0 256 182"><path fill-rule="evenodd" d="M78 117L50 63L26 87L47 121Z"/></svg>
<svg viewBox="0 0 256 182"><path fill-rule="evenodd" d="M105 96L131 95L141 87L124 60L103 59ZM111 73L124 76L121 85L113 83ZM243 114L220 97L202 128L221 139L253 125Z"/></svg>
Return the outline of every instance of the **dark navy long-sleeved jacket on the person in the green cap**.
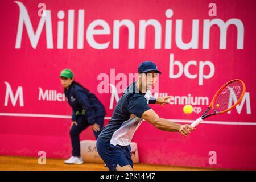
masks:
<svg viewBox="0 0 256 182"><path fill-rule="evenodd" d="M96 117L106 115L104 106L89 90L72 82L68 90L64 89L68 104L72 107L72 121L77 121L77 115L87 117L88 123L93 125Z"/></svg>

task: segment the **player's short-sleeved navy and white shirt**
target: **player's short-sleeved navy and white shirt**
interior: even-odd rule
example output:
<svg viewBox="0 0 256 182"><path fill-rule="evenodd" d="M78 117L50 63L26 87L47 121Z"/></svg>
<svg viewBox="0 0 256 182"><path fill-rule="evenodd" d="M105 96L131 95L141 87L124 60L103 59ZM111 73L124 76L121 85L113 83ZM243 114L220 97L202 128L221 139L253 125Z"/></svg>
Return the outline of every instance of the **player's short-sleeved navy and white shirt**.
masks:
<svg viewBox="0 0 256 182"><path fill-rule="evenodd" d="M113 145L128 146L135 131L142 122L142 114L151 109L148 106L150 96L141 93L136 82L125 90L115 106L108 125L104 127L98 138Z"/></svg>

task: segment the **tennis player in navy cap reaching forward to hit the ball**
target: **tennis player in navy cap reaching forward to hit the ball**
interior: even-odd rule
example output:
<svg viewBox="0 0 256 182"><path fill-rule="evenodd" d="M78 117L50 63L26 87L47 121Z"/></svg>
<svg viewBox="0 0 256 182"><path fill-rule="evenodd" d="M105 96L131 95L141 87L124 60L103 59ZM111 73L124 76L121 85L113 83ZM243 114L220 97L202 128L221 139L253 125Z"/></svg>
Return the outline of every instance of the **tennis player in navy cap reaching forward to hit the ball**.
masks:
<svg viewBox="0 0 256 182"><path fill-rule="evenodd" d="M167 104L168 98L150 98L148 90L155 84L161 72L155 63L145 61L138 67L138 80L133 82L123 93L115 106L108 125L104 127L97 139L97 151L110 171L133 170L130 142L142 119L163 131L177 131L187 136L193 127L180 125L160 118L148 104Z"/></svg>

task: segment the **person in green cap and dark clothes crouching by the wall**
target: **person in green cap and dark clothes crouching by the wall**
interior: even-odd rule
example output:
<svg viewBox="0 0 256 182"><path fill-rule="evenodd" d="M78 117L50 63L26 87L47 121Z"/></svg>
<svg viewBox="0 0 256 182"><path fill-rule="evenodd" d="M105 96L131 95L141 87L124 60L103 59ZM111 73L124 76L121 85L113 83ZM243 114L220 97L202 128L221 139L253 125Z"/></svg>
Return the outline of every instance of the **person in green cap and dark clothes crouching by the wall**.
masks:
<svg viewBox="0 0 256 182"><path fill-rule="evenodd" d="M80 156L79 135L90 126L97 139L104 124L106 111L93 93L74 81L73 72L70 69L61 71L59 77L68 104L72 107L72 123L69 133L72 143L72 156L64 163L82 164L84 162Z"/></svg>

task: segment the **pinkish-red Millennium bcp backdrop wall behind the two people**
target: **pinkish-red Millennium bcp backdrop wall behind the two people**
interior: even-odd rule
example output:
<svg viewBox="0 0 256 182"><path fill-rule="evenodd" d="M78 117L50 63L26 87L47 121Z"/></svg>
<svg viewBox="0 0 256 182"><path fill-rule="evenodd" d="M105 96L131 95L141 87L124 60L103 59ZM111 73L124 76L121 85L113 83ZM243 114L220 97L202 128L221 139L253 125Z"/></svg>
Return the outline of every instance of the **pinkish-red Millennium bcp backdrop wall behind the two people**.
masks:
<svg viewBox="0 0 256 182"><path fill-rule="evenodd" d="M151 105L160 117L191 123L226 82L245 82L242 102L206 119L188 137L136 131L142 163L256 169L254 1L1 1L0 154L67 158L69 107L58 78L69 68L104 104L105 125L138 65L162 71ZM235 100L236 98L232 98ZM183 113L192 105L193 113ZM94 139L91 129L81 140Z"/></svg>

